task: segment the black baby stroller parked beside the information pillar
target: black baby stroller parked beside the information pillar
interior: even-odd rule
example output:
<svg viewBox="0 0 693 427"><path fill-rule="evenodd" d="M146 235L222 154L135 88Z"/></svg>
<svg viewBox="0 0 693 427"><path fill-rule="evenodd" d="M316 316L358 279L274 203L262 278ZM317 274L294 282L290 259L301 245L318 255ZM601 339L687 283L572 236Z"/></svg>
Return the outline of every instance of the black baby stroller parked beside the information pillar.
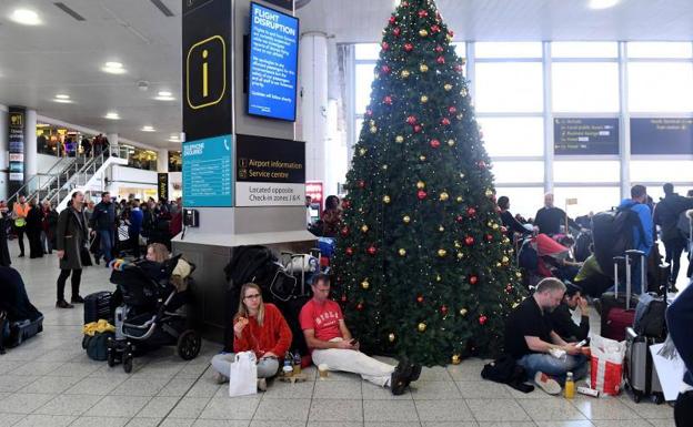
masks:
<svg viewBox="0 0 693 427"><path fill-rule="evenodd" d="M109 366L121 362L130 373L135 354L167 345L174 345L183 360L200 353L200 335L190 327L189 316L178 312L190 302L190 291L179 292L171 283L179 260L180 255L161 264L144 261L113 270L111 283L123 304L116 308L116 337L107 344Z"/></svg>

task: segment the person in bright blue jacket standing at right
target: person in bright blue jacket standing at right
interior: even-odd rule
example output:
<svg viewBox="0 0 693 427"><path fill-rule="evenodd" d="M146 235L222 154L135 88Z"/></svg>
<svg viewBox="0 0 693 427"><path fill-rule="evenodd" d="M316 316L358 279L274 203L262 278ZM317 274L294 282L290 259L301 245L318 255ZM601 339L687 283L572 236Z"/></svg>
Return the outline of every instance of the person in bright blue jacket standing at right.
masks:
<svg viewBox="0 0 693 427"><path fill-rule="evenodd" d="M644 185L633 185L631 189L631 199L624 199L619 205L619 211L622 212L632 212L636 214L633 215L631 222L633 225L631 228L633 230L633 241L632 248L641 251L645 254L644 260L650 255L650 251L652 251L652 246L654 246L654 224L652 222L652 212L650 207L645 204L647 201L647 189ZM631 273L631 293L632 294L641 294L642 293L642 270L646 268L646 265L643 265L643 260L641 257L634 258L632 264L632 273Z"/></svg>

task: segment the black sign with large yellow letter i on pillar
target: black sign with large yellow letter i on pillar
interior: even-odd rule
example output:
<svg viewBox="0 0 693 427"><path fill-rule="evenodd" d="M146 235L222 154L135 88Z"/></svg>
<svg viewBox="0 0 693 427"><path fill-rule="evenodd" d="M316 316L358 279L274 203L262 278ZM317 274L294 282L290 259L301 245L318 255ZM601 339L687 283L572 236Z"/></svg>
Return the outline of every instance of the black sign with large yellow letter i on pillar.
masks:
<svg viewBox="0 0 693 427"><path fill-rule="evenodd" d="M183 131L189 141L233 132L229 0L184 0Z"/></svg>

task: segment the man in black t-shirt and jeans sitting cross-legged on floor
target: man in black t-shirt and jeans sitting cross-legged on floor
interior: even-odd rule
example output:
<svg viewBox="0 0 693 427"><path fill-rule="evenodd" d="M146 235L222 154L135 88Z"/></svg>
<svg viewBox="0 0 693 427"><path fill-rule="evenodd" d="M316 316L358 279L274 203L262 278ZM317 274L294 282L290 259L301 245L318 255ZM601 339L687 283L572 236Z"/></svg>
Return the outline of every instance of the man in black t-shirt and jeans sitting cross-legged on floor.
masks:
<svg viewBox="0 0 693 427"><path fill-rule="evenodd" d="M575 343L565 343L551 326L549 313L561 304L563 294L563 282L544 278L536 285L534 295L508 316L505 324L505 352L538 386L552 395L561 393L559 383L565 382L569 372L574 379L580 379L587 369L581 348Z"/></svg>

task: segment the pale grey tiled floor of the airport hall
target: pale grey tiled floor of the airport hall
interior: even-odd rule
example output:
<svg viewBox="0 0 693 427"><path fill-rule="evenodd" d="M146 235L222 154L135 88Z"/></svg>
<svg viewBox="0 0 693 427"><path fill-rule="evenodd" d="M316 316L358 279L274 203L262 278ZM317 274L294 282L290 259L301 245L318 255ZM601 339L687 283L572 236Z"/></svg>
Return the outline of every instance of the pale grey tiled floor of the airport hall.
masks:
<svg viewBox="0 0 693 427"><path fill-rule="evenodd" d="M17 253L11 242L12 253ZM0 427L3 426L231 426L231 427L673 427L667 405L634 404L626 396L594 399L522 394L482 380L483 360L424 369L410 393L389 390L355 375L331 374L300 384L275 382L253 397L229 398L211 379L219 345L183 362L164 348L137 358L133 373L90 360L81 348L82 311L54 308L54 256L13 258L44 331L0 356ZM108 271L84 271L82 294L110 289ZM68 285L69 287L69 285ZM593 318L596 323L596 317ZM599 327L599 326L597 326Z"/></svg>

